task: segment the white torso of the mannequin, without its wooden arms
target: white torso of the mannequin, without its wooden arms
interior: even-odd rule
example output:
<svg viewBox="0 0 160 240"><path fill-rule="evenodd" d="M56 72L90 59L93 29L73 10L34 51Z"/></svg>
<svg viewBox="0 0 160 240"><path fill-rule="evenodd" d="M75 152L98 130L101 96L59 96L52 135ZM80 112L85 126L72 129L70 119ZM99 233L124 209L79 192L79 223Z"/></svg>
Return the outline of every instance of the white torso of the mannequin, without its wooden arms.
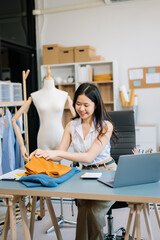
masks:
<svg viewBox="0 0 160 240"><path fill-rule="evenodd" d="M40 118L38 148L57 149L63 135L62 115L68 93L55 88L54 80L45 80L44 87L31 94Z"/></svg>

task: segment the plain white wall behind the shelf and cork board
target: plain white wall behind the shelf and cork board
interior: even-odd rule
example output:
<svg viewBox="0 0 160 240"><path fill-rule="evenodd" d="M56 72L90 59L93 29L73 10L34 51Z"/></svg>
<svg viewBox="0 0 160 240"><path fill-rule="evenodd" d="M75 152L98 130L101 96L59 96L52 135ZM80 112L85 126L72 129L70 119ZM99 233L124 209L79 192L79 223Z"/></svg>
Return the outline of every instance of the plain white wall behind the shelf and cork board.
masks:
<svg viewBox="0 0 160 240"><path fill-rule="evenodd" d="M49 7L52 1L45 0L44 8ZM128 86L128 68L160 66L159 11L159 0L139 0L46 14L43 21L37 17L39 45L92 45L97 55L119 63L120 83ZM136 94L138 124L156 124L160 145L160 88L140 89Z"/></svg>

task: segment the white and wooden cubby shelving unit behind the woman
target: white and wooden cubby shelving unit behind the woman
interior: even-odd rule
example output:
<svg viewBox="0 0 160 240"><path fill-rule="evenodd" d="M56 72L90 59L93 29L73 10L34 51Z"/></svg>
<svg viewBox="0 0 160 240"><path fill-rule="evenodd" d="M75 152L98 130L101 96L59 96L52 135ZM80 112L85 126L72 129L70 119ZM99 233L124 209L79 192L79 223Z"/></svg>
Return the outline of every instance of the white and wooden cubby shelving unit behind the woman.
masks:
<svg viewBox="0 0 160 240"><path fill-rule="evenodd" d="M112 74L112 79L108 81L93 81L101 92L102 99L108 111L117 110L119 102L119 83L118 83L118 66L115 61L106 62L82 62L50 65L51 76L55 79L55 85L58 89L68 92L73 99L75 90L82 83L79 76L79 68L90 66L92 68L92 77L98 74ZM41 66L41 87L47 75L47 65ZM73 83L66 83L69 76L74 77ZM56 78L61 78L62 83L56 83ZM64 82L64 83L63 83ZM68 104L66 103L63 114L63 125L65 126L72 118Z"/></svg>

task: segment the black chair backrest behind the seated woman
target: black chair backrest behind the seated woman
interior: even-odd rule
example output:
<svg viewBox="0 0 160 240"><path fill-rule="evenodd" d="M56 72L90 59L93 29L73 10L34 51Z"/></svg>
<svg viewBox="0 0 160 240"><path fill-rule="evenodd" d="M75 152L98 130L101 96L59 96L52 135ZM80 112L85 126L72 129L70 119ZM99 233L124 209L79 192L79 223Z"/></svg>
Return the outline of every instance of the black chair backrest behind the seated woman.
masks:
<svg viewBox="0 0 160 240"><path fill-rule="evenodd" d="M118 141L111 141L111 156L118 162L120 155L133 154L135 147L135 122L134 111L109 111L109 116L118 131Z"/></svg>

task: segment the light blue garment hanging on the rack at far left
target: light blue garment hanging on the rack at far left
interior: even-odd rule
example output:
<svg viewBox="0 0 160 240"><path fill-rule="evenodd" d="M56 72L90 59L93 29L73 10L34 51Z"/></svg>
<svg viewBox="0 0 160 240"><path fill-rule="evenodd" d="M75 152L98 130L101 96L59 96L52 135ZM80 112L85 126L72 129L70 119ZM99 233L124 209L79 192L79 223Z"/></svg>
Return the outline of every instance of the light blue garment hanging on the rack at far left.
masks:
<svg viewBox="0 0 160 240"><path fill-rule="evenodd" d="M2 172L3 174L24 167L24 161L21 156L19 143L14 133L12 125L12 114L7 109L5 116L7 127L3 126L2 142ZM19 121L17 125L20 127Z"/></svg>

